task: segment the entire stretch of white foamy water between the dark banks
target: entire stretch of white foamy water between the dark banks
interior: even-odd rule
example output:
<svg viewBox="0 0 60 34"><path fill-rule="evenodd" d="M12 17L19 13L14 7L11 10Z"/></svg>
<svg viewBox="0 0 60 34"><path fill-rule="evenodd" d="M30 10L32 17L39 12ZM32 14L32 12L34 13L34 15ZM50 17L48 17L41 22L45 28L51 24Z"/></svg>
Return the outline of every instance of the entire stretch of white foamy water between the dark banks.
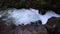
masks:
<svg viewBox="0 0 60 34"><path fill-rule="evenodd" d="M60 17L60 15L56 14L53 11L48 11L45 15L41 15L38 13L38 10L32 8L8 10L8 14L10 14L8 18L12 17L15 25L26 25L30 24L30 22L35 22L38 20L41 20L42 24L46 24L49 18ZM8 20L8 18L6 19Z"/></svg>

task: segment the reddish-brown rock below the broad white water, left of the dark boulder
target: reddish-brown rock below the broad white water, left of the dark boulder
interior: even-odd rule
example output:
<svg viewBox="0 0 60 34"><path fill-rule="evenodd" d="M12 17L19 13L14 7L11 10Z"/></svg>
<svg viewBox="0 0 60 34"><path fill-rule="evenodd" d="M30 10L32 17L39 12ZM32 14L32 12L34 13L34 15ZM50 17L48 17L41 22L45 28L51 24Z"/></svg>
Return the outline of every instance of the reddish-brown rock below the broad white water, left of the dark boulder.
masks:
<svg viewBox="0 0 60 34"><path fill-rule="evenodd" d="M46 28L39 23L3 26L0 25L0 34L48 34Z"/></svg>

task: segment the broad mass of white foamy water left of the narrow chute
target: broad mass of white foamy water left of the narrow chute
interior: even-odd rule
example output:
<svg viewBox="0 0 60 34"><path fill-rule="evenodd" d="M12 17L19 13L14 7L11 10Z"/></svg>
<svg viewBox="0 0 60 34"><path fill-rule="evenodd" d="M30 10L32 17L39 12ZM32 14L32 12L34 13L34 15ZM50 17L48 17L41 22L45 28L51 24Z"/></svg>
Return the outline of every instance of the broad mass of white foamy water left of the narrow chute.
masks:
<svg viewBox="0 0 60 34"><path fill-rule="evenodd" d="M30 22L35 22L40 20L39 15L37 14L38 10L32 9L15 9L13 12L9 12L12 18L14 18L14 23L18 24L29 24Z"/></svg>

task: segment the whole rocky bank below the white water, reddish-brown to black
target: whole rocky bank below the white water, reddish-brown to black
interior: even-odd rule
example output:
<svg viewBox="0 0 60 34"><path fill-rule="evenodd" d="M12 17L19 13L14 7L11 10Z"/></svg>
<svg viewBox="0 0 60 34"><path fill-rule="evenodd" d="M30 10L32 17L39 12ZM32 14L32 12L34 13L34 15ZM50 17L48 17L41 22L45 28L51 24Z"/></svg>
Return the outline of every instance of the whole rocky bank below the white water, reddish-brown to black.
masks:
<svg viewBox="0 0 60 34"><path fill-rule="evenodd" d="M0 34L59 34L60 33L60 18L52 17L46 25L42 25L41 21L27 25L5 25L0 24Z"/></svg>

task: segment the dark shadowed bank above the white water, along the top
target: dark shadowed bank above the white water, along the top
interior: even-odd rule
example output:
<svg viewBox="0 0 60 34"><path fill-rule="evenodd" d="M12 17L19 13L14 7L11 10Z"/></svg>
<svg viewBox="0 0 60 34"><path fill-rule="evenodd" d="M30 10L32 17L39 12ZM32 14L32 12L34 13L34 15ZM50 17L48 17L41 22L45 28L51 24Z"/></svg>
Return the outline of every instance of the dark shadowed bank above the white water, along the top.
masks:
<svg viewBox="0 0 60 34"><path fill-rule="evenodd" d="M33 8L45 14L47 10L52 10L60 14L60 1L59 0L0 0L0 10L8 8Z"/></svg>

